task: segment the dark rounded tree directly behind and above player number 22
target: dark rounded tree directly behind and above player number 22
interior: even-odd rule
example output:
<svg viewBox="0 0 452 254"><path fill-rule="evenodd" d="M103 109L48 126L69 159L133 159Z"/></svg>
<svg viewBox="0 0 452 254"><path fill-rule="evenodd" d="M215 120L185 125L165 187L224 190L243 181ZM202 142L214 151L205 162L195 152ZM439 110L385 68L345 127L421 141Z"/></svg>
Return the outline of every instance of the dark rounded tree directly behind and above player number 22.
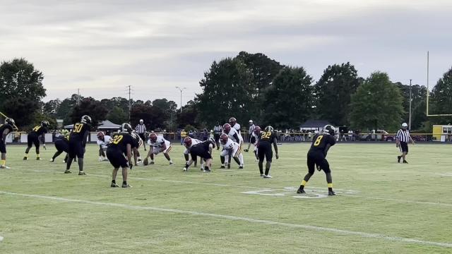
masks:
<svg viewBox="0 0 452 254"><path fill-rule="evenodd" d="M302 67L285 67L266 92L265 121L277 128L298 128L312 110L312 78Z"/></svg>

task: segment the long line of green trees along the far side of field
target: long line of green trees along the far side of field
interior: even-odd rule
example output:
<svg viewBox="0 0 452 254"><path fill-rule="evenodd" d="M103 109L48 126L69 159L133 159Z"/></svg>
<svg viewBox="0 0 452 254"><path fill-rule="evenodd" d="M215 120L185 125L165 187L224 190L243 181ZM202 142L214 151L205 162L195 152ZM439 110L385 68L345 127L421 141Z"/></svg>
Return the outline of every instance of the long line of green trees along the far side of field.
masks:
<svg viewBox="0 0 452 254"><path fill-rule="evenodd" d="M303 67L285 66L264 54L240 52L233 58L213 61L199 82L202 92L182 112L165 98L153 101L123 97L97 100L72 95L42 102L44 75L25 59L4 61L0 66L0 111L29 129L43 119L56 126L78 121L89 114L94 122L114 123L143 119L148 129L212 128L230 116L239 123L249 119L265 126L297 129L308 119L326 120L335 126L362 131L395 131L408 121L410 86L393 83L387 73L375 71L362 78L351 63L328 66L316 82ZM412 130L431 131L434 123L450 123L451 117L426 116L427 89L412 85ZM430 92L430 113L452 113L452 68ZM130 105L130 108L129 108ZM129 116L130 114L130 116ZM130 117L130 119L129 119Z"/></svg>

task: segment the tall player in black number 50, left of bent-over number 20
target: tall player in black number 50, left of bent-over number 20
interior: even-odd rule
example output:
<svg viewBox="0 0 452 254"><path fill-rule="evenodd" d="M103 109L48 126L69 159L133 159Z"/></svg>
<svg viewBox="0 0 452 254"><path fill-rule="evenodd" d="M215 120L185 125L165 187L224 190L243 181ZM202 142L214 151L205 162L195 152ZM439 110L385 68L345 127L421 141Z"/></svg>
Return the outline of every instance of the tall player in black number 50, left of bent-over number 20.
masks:
<svg viewBox="0 0 452 254"><path fill-rule="evenodd" d="M64 174L71 174L71 164L75 157L78 159L78 175L85 175L83 171L83 156L85 155L86 139L91 131L91 117L84 115L80 123L75 123L69 135L69 159Z"/></svg>

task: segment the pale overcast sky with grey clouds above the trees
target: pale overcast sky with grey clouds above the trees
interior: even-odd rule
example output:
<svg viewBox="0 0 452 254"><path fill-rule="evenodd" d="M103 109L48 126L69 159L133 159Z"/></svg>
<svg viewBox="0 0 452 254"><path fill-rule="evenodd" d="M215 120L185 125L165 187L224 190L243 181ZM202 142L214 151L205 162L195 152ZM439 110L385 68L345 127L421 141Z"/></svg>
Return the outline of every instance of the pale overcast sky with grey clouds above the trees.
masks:
<svg viewBox="0 0 452 254"><path fill-rule="evenodd" d="M44 73L45 101L201 92L210 63L240 51L303 66L318 80L350 61L367 77L431 85L452 66L450 0L0 0L0 61Z"/></svg>

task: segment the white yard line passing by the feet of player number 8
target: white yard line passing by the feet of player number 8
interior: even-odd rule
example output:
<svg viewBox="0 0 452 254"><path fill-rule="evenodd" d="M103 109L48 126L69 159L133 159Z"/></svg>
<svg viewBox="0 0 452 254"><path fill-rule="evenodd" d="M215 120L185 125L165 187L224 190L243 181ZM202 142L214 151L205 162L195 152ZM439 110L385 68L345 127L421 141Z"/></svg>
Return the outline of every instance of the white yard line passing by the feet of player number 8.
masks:
<svg viewBox="0 0 452 254"><path fill-rule="evenodd" d="M23 171L33 171L33 172L39 172L39 173L57 173L57 174L63 174L61 171L52 171L52 170L36 170L36 169L23 169ZM100 175L100 174L88 174L89 176L95 176L95 177L101 177L101 178L110 178L110 176L107 175ZM135 179L135 180L142 180L142 181L162 181L167 183L187 183L187 184L197 184L197 185L206 185L206 186L219 186L219 187L230 187L230 188L246 188L251 190L261 190L262 188L269 188L266 187L256 187L256 186L234 186L224 183L200 183L200 182L194 182L194 181L177 181L177 180L165 180L165 179L148 179L144 177L136 177L136 176L129 176L129 179ZM270 187L271 188L271 187ZM273 189L281 189L283 187L274 187ZM316 190L324 190L326 188L322 187L314 187L314 186L307 186L307 189L316 189ZM359 194L345 194L340 193L341 191L348 191L343 189L335 188L335 191L338 191L338 195L340 196L347 196L351 198L365 198L370 200L383 200L383 201L390 201L390 202L398 202L398 203L412 203L412 204L418 204L418 205L434 205L434 206L443 206L443 207L452 207L452 204L445 203L445 202L429 202L429 201L417 201L417 200L399 200L395 198L379 198L379 197L373 197L373 196L366 196L366 195L359 195ZM295 193L294 193L295 194Z"/></svg>

